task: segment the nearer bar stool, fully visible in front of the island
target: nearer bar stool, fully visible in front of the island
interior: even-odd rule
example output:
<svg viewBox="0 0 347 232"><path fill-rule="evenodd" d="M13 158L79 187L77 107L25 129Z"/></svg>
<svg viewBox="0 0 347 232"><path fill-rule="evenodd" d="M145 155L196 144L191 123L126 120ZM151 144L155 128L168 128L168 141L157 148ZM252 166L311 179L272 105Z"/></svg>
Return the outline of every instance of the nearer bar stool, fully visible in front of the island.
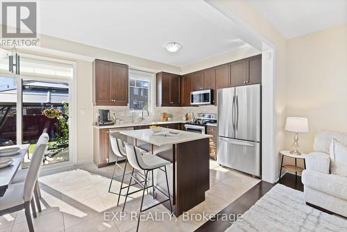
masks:
<svg viewBox="0 0 347 232"><path fill-rule="evenodd" d="M158 206L159 204L162 204L166 201L169 201L170 209L171 209L171 213L172 213L172 204L171 204L171 197L170 197L170 190L169 190L169 181L167 180L167 167L166 167L166 165L169 165L171 163L169 161L164 160L163 158L160 158L160 157L155 156L155 155L142 156L140 149L138 147L131 146L129 144L126 144L126 154L127 154L129 164L131 166L133 166L133 172L131 172L130 181L128 184L128 190L126 191L126 199L128 198L128 195L142 191L142 200L141 200L141 206L139 208L139 213L142 213L146 210L149 210L149 209L151 209L155 206ZM164 169L162 169L162 167L164 167ZM135 183L138 183L139 185L141 185L141 183L135 178L135 176L133 176L135 169L144 171L144 186L143 186L143 189L129 192L131 181L133 179L134 179ZM155 170L155 169L160 169L162 172L165 173L165 177L167 180L167 192L168 192L168 194L162 192L162 190L160 190L159 188L157 188L154 185L153 170ZM147 186L147 177L148 177L149 172L152 172L152 185L151 186ZM142 209L142 205L144 203L144 190L148 191L148 188L153 188L153 190L154 189L158 190L159 192L164 194L164 196L167 197L167 199L165 199L164 201L160 201L158 204L155 204L153 206L149 206L148 208ZM154 194L155 193L153 191L153 198L155 198ZM126 200L124 201L122 212L124 212L125 206L126 206ZM138 231L138 229L139 229L139 218L137 219L136 231Z"/></svg>

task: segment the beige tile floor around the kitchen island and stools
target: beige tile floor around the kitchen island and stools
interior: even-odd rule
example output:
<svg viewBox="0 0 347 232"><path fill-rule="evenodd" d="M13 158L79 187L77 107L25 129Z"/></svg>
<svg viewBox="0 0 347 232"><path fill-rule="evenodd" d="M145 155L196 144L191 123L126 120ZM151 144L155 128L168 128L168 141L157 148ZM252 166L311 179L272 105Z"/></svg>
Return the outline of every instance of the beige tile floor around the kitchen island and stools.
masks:
<svg viewBox="0 0 347 232"><path fill-rule="evenodd" d="M41 176L39 181L44 209L33 219L35 231L135 231L137 221L131 215L132 212L138 213L141 192L127 202L126 214L120 215L124 197L117 206L117 195L108 193L113 167L97 169L90 164ZM210 190L206 192L206 200L189 210L189 213L218 213L259 181L220 167L211 160ZM120 183L118 180L113 183L112 190L116 191ZM128 183L128 177L125 183ZM155 202L147 195L144 205L151 204ZM206 222L199 218L185 220L183 216L169 217L168 213L169 210L161 205L142 213L142 218L147 220L141 221L139 231L194 231ZM155 216L163 217L163 220L153 220ZM24 211L1 216L0 232L4 231L28 231Z"/></svg>

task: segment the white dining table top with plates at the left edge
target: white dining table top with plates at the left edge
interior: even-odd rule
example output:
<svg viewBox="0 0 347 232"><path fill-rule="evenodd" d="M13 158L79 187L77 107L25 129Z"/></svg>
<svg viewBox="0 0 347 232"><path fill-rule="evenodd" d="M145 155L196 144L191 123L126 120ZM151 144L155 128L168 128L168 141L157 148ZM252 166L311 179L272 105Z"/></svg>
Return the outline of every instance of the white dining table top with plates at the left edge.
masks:
<svg viewBox="0 0 347 232"><path fill-rule="evenodd" d="M18 154L13 156L2 156L2 157L10 157L13 160L13 163L8 165L7 167L0 168L0 197L3 197L6 190L8 189L8 185L10 185L13 177L17 173L19 166L22 164L24 156L28 152L30 144L22 144L22 145L12 145L6 147L20 147L20 151Z"/></svg>

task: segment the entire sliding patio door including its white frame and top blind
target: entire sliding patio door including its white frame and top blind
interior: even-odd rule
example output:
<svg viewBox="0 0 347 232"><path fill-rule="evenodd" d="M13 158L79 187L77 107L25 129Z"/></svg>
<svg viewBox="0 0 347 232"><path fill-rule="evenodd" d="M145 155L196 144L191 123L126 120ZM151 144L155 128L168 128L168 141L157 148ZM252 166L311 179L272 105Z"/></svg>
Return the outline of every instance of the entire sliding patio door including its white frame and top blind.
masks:
<svg viewBox="0 0 347 232"><path fill-rule="evenodd" d="M74 67L24 56L21 61L20 76L4 73L0 62L0 146L31 144L22 165L28 167L38 138L48 133L43 165L72 164Z"/></svg>

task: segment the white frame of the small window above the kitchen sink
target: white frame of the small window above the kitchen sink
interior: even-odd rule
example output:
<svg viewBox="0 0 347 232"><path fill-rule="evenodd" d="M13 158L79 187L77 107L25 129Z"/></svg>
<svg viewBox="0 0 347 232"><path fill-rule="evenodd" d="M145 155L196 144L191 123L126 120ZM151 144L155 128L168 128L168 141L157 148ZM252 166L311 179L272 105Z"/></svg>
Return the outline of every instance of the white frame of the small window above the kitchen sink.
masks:
<svg viewBox="0 0 347 232"><path fill-rule="evenodd" d="M139 74L142 75L142 78L132 78L131 74ZM130 110L130 79L137 80L137 81L149 81L149 113L154 112L154 80L155 80L155 74L151 72L144 72L136 69L129 69L129 78L128 78L128 113L139 113L142 110Z"/></svg>

